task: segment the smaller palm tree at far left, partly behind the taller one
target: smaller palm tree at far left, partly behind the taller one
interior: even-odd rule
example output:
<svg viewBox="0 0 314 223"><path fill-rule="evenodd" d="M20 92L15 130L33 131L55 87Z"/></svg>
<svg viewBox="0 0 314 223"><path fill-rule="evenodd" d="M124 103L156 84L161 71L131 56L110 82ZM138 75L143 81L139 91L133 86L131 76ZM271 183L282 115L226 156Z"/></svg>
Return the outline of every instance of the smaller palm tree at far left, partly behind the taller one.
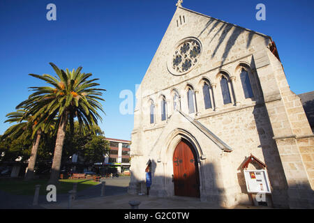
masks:
<svg viewBox="0 0 314 223"><path fill-rule="evenodd" d="M38 146L40 142L40 137L42 133L51 132L53 130L53 125L47 125L47 123L40 123L33 119L33 117L27 113L25 109L18 109L16 112L10 112L6 115L8 119L5 123L16 123L10 126L6 132L4 132L2 139L7 137L13 137L17 139L22 135L27 138L33 139L33 144L31 147L31 156L29 157L29 164L27 167L27 174L25 174L24 180L30 180L33 178L33 169L36 164L36 156L38 151ZM36 130L36 134L33 134L33 129L38 125L39 128Z"/></svg>

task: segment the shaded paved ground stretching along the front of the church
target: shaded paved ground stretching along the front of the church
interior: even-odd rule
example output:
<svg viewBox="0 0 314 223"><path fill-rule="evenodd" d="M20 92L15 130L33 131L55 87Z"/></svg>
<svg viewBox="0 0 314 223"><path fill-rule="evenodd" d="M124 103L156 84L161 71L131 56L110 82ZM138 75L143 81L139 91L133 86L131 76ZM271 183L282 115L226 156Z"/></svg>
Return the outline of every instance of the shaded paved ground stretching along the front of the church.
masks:
<svg viewBox="0 0 314 223"><path fill-rule="evenodd" d="M77 192L72 209L129 209L129 201L140 201L140 209L216 209L209 203L192 197L172 197L169 199L149 197L147 195L130 195L127 193L129 176L105 179L105 196L100 197L101 184ZM47 202L45 195L40 195L38 206L33 206L33 196L17 196L0 191L0 208L38 208L68 209L68 194L57 194L57 202ZM267 208L254 206L236 206L234 208Z"/></svg>

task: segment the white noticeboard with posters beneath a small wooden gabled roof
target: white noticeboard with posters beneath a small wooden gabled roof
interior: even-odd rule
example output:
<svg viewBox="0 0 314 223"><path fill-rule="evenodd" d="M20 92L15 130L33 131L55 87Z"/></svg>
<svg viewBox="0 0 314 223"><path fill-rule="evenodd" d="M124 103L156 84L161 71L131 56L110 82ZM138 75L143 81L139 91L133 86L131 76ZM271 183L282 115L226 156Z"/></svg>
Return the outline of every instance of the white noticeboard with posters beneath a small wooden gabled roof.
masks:
<svg viewBox="0 0 314 223"><path fill-rule="evenodd" d="M246 179L246 189L248 193L271 193L266 170L245 170L244 178Z"/></svg>

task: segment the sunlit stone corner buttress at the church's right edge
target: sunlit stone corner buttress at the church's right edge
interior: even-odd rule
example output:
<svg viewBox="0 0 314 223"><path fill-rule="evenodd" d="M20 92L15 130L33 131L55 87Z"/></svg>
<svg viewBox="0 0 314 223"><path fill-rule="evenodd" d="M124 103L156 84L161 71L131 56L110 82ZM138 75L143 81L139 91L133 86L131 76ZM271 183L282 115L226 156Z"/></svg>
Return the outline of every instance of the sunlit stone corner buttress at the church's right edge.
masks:
<svg viewBox="0 0 314 223"><path fill-rule="evenodd" d="M254 59L287 179L290 207L313 207L313 190L308 176L308 171L311 171L312 167L311 164L308 165L308 169L305 167L297 143L301 133L307 133L306 137L311 137L311 128L302 118L305 116L303 107L287 86L283 67L273 54L265 50L254 54ZM292 104L294 107L291 107ZM301 117L300 120L298 116Z"/></svg>

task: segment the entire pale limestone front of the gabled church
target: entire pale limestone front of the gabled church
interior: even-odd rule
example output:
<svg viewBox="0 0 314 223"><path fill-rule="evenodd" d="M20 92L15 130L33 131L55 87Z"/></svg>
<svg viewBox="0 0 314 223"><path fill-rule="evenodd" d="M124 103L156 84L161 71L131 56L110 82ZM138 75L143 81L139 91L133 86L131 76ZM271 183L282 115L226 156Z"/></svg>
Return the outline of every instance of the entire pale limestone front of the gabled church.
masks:
<svg viewBox="0 0 314 223"><path fill-rule="evenodd" d="M195 49L188 55L192 63L181 61L184 52L180 55L178 47L184 43ZM314 207L313 132L300 99L290 91L281 61L271 52L273 46L269 36L179 4L136 94L129 193L140 192L151 160L151 196L174 196L172 157L179 141L186 139L197 153L201 201L225 207L251 203L241 164L252 154L267 164L271 184L267 199L272 206ZM243 70L248 73L251 98L244 92ZM223 78L230 103L224 102ZM210 89L208 109L204 83ZM194 92L193 112L189 89Z"/></svg>

